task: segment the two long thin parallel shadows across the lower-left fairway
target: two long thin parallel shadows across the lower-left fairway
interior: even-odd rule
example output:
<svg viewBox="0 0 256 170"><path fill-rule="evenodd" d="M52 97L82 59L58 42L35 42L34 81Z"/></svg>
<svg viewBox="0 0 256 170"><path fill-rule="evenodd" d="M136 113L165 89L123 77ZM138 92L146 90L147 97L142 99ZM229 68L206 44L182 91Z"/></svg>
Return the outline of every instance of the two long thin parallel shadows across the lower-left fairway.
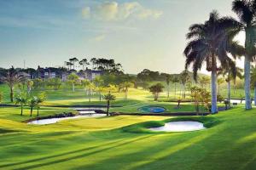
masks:
<svg viewBox="0 0 256 170"><path fill-rule="evenodd" d="M56 160L56 161L49 161L49 162L45 162L45 163L39 163L39 164L36 164L36 165L31 165L31 166L27 166L27 167L19 167L19 168L14 168L14 169L27 170L27 169L30 169L30 168L43 167L43 166L47 166L47 165L50 165L50 164L60 163L62 161L70 161L70 160L73 160L73 159L81 158L83 156L90 156L90 155L93 155L93 154L96 154L96 153L99 153L99 152L102 152L102 151L111 150L114 147L119 147L119 146L125 145L125 144L131 144L132 142L135 142L137 140L146 139L146 138L149 138L149 137L150 136L148 135L148 136L145 136L145 137L142 137L142 138L139 138L139 139L133 139L133 140L129 140L129 141L126 141L124 143L121 143L121 144L116 144L116 143L120 143L120 142L126 140L126 139L122 139L122 140L119 140L118 142L114 141L114 142L111 142L111 143L108 143L108 144L101 144L101 145L97 145L97 146L92 146L90 148L65 152L65 153L62 153L62 154L55 155L55 156L47 156L47 157L33 159L33 160L29 160L29 161L21 161L21 162L17 162L17 163L13 163L13 164L3 165L3 166L0 166L0 167L9 167L9 166L15 166L15 165L22 165L22 164L26 164L26 163L31 163L33 161L44 161L44 160L47 160L47 159L50 159L50 158L55 158L55 157L58 157L58 156L67 156L67 155L74 154L74 153L81 152L81 151L93 150L93 149L99 148L99 147L104 146L104 145L116 144L116 145L113 145L113 146L103 148L101 150L94 150L94 151L90 151L88 153L79 154L77 156L70 156L70 157L62 158L62 159Z"/></svg>

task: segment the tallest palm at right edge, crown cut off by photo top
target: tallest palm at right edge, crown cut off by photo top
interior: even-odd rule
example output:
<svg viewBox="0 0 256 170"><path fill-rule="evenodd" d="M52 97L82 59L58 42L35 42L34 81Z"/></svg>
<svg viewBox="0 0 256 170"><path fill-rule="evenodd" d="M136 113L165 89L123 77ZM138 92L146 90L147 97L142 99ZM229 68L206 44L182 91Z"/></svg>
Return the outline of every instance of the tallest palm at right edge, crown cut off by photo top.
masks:
<svg viewBox="0 0 256 170"><path fill-rule="evenodd" d="M235 0L232 3L232 10L237 14L239 21L236 21L236 30L245 31L245 49L246 54L244 58L244 89L246 110L252 109L251 94L250 94L250 69L251 61L255 57L254 45L256 42L256 0ZM234 21L235 24L235 21Z"/></svg>

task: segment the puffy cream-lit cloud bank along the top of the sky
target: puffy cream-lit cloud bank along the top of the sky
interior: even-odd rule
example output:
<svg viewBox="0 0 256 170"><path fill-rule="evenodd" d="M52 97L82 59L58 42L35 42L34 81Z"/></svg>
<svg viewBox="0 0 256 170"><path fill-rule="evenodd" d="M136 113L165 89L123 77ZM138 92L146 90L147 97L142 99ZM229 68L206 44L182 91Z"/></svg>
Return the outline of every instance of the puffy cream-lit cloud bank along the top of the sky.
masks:
<svg viewBox="0 0 256 170"><path fill-rule="evenodd" d="M96 7L85 7L82 10L85 19L96 19L105 21L117 21L134 18L145 20L148 18L158 19L163 12L151 8L145 8L140 3L100 3Z"/></svg>

